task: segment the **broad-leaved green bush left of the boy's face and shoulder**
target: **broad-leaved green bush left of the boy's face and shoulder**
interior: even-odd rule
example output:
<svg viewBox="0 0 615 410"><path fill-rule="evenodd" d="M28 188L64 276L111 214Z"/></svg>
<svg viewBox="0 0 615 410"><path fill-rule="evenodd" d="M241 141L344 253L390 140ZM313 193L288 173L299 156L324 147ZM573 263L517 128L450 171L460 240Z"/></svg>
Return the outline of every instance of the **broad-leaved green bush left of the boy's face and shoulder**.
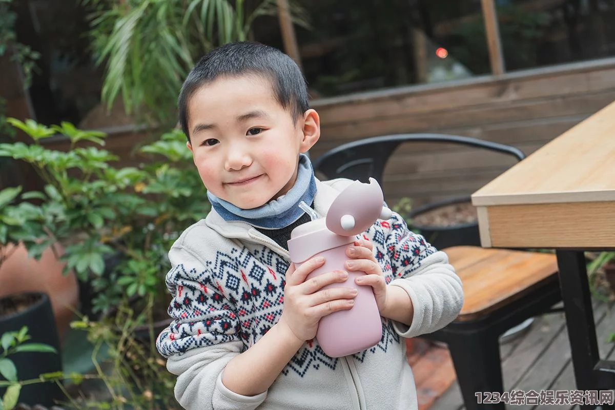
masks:
<svg viewBox="0 0 615 410"><path fill-rule="evenodd" d="M38 259L60 243L64 253L56 256L66 262L65 272L92 283L95 313L108 313L124 299L143 307L148 294L165 301L166 253L183 229L210 210L185 135L172 130L141 148L149 162L140 168L114 167L117 157L97 147L105 143L104 133L66 122L9 122L33 143L0 144L0 157L33 165L46 185L42 192L0 191L0 245L21 242ZM57 133L69 138L71 149L41 144ZM80 146L84 141L93 146ZM105 274L111 256L119 263Z"/></svg>

